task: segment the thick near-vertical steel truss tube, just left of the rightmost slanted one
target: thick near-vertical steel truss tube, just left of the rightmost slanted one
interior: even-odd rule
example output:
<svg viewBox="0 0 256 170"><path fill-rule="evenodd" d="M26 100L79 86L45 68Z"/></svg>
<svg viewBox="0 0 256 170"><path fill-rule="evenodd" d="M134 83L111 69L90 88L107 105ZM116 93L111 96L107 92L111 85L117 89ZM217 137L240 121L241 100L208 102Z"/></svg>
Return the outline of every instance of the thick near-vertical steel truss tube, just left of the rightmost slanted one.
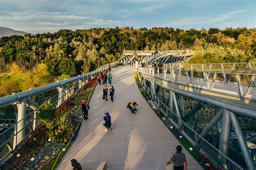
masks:
<svg viewBox="0 0 256 170"><path fill-rule="evenodd" d="M228 155L228 150L230 148L230 133L231 133L231 122L228 110L223 109L222 123L221 123L221 132L220 132L220 141L219 141L219 150L220 152ZM221 158L221 156L220 156ZM223 161L223 166L226 167L226 160L221 158Z"/></svg>

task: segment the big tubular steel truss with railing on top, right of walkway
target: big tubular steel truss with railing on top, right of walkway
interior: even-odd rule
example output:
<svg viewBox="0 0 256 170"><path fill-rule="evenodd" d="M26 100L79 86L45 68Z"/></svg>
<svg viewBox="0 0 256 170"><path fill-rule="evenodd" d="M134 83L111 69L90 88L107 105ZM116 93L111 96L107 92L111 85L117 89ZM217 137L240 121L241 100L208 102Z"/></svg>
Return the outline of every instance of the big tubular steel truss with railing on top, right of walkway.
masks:
<svg viewBox="0 0 256 170"><path fill-rule="evenodd" d="M254 64L254 63L253 63ZM247 65L251 65L251 63L247 63ZM210 69L210 68L208 68ZM224 69L224 68L222 68ZM231 136L231 128L237 136L238 144L240 146L240 150L242 153L242 157L244 158L245 165L247 169L255 169L255 165L253 159L248 150L246 141L242 134L241 126L238 121L239 116L245 116L248 118L256 119L256 103L255 103L255 72L246 73L234 73L235 70L228 70L228 72L220 72L213 70L183 70L181 67L169 67L169 68L138 68L138 74L140 83L142 83L144 90L151 95L153 101L158 105L159 108L165 113L171 123L176 126L177 129L180 130L184 136L191 141L191 143L197 147L198 149L203 149L207 154L211 155L212 158L215 158L219 164L222 164L227 168L242 168L240 165L235 163L228 157L228 152L230 151L230 136ZM193 75L201 74L201 77L197 77ZM169 74L169 75L167 75ZM211 76L211 81L209 79ZM211 89L214 87L214 82L217 81L216 77L220 74L224 77L224 80L219 80L221 83L233 83L234 86L237 86L239 89L239 95L236 95L239 98L239 104L233 103L231 101L225 101L223 98L218 97L218 95L207 96L203 93L204 90L210 93ZM236 75L234 77L228 76L228 80L226 75ZM240 76L246 75L248 79L248 84L246 87L241 83L239 79ZM178 81L184 78L184 81ZM197 84L199 81L196 79L200 79L203 84ZM184 83L185 82L185 83ZM161 96L163 96L163 100L160 100L158 97L159 89L162 89ZM189 88L196 90L189 90ZM246 89L245 92L242 90ZM169 91L169 96L166 96L166 91ZM248 91L251 91L251 95L248 94ZM214 92L215 93L215 92ZM227 91L223 91L224 94ZM228 94L232 96L231 94ZM189 97L196 101L196 104L189 112L184 112L184 100L183 97ZM234 97L234 96L233 96ZM252 104L248 104L246 101L250 101ZM244 102L244 103L243 103ZM203 106L203 104L211 104L216 109L216 114L212 118L212 120L207 124L207 126L201 130L200 133L197 133L191 126L189 126L188 122L191 116L196 114L196 112ZM204 137L215 127L219 126L219 147L215 148L210 143L208 143ZM213 151L209 151L209 148L212 148Z"/></svg>

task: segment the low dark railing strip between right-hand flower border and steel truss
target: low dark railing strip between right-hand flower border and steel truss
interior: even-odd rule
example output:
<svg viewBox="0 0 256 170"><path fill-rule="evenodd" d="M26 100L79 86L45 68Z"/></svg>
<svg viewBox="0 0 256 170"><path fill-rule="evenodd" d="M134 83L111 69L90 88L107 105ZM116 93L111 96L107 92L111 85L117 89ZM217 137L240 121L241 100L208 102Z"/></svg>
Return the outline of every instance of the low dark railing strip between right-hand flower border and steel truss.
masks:
<svg viewBox="0 0 256 170"><path fill-rule="evenodd" d="M139 75L140 83L143 84L143 88L147 94L149 94L153 100L153 102L157 105L158 108L165 114L165 116L169 119L169 121L173 124L176 129L179 129L179 124L183 124L183 129L180 131L183 136L191 142L191 144L195 147L198 147L200 140L200 147L198 149L200 151L204 151L211 158L214 159L219 165L225 165L228 169L244 169L232 159L228 158L227 155L220 152L218 148L214 147L211 143L209 143L206 139L200 136L198 132L196 132L190 124L184 122L181 119L176 111L171 110L160 98L157 94L154 94L154 91L151 90L149 86L147 86ZM172 127L168 127L172 129ZM179 137L178 137L179 138ZM199 139L199 140L198 140ZM225 161L225 162L223 162Z"/></svg>

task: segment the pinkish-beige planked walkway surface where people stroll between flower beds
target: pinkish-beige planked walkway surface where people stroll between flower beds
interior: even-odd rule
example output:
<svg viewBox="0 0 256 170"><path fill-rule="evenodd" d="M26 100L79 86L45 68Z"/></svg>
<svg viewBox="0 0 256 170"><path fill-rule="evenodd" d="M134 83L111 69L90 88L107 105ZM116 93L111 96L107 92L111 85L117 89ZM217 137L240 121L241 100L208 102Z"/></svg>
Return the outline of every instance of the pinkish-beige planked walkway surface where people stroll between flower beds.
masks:
<svg viewBox="0 0 256 170"><path fill-rule="evenodd" d="M102 86L97 86L91 98L89 120L83 121L78 137L58 166L72 169L75 158L83 169L97 169L102 161L107 169L172 169L166 166L176 152L178 140L151 110L134 82L130 66L112 70L116 94L114 102L102 99ZM137 114L126 108L128 102L137 102ZM110 112L113 130L104 131L103 115ZM202 169L184 149L189 169Z"/></svg>

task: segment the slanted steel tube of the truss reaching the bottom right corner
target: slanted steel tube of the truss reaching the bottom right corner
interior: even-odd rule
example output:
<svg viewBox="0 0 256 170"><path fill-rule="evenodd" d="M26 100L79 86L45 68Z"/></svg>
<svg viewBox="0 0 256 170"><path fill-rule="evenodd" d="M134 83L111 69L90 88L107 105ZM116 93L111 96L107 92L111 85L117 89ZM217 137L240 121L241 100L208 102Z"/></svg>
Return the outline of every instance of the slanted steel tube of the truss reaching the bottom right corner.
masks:
<svg viewBox="0 0 256 170"><path fill-rule="evenodd" d="M242 151L242 156L245 160L246 167L247 167L247 169L255 169L254 162L253 162L252 157L248 151L246 141L244 139L244 136L242 135L242 130L240 128L240 125L239 125L239 122L237 119L237 115L235 115L233 112L230 111L229 116L230 116L230 120L231 120L233 128L234 128L235 134L237 134L238 144Z"/></svg>

